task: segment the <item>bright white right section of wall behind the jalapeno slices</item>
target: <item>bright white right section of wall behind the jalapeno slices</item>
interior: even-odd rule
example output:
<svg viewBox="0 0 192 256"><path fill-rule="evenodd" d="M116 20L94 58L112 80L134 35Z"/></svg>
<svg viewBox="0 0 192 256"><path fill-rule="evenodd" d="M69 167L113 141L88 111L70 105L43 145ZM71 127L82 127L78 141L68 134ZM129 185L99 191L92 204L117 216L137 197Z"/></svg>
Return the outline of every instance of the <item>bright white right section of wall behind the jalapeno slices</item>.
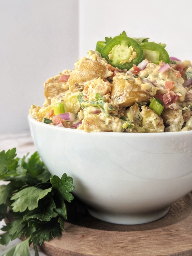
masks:
<svg viewBox="0 0 192 256"><path fill-rule="evenodd" d="M170 56L192 60L191 0L80 0L79 9L80 56L125 30L167 44Z"/></svg>

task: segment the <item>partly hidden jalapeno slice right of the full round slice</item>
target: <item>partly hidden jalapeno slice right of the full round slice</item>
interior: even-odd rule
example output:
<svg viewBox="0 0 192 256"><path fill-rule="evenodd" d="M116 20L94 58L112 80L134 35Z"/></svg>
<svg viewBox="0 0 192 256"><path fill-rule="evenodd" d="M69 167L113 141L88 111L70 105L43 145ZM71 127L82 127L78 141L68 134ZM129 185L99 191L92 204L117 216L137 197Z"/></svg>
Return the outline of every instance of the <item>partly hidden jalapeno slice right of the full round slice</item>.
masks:
<svg viewBox="0 0 192 256"><path fill-rule="evenodd" d="M165 63L170 62L169 54L160 44L154 42L144 42L141 43L141 48L143 49L144 58L158 64L160 61Z"/></svg>

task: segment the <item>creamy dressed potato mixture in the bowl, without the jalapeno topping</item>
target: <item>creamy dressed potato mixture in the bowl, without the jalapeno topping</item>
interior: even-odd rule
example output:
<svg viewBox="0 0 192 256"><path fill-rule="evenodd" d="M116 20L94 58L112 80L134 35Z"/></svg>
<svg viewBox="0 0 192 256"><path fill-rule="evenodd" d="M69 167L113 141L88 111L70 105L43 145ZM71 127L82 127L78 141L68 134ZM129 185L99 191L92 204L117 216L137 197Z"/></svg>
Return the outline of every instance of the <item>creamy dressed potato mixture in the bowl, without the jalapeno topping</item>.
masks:
<svg viewBox="0 0 192 256"><path fill-rule="evenodd" d="M45 82L44 107L33 104L30 114L40 122L48 118L51 125L59 127L74 128L78 123L76 128L85 132L192 130L192 86L183 86L192 77L191 62L178 62L184 67L182 76L173 69L174 65L160 72L162 65L148 63L137 73L133 68L119 70L98 52L89 51L72 71L65 69ZM158 96L165 104L161 116L149 108L152 98ZM54 124L55 104L64 104L68 112L75 114L75 121Z"/></svg>

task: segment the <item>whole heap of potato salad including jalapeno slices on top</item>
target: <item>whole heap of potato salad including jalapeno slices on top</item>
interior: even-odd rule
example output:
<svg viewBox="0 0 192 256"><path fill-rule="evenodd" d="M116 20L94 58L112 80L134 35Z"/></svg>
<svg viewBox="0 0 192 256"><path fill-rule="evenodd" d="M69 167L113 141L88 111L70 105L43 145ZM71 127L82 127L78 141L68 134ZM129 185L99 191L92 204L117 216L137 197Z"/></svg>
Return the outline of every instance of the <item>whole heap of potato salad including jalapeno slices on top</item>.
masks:
<svg viewBox="0 0 192 256"><path fill-rule="evenodd" d="M98 41L44 84L44 107L30 115L85 132L192 130L192 64L169 57L165 44L119 36Z"/></svg>

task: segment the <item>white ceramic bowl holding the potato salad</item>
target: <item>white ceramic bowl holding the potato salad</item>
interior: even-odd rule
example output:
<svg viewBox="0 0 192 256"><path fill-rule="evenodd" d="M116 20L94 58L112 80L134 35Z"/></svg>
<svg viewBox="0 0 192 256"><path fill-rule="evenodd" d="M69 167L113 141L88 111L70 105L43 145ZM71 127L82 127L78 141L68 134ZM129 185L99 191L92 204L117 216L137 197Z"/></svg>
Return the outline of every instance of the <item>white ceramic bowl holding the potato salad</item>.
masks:
<svg viewBox="0 0 192 256"><path fill-rule="evenodd" d="M49 171L71 176L75 196L100 220L118 224L157 220L192 190L192 131L86 133L30 116L28 120Z"/></svg>

